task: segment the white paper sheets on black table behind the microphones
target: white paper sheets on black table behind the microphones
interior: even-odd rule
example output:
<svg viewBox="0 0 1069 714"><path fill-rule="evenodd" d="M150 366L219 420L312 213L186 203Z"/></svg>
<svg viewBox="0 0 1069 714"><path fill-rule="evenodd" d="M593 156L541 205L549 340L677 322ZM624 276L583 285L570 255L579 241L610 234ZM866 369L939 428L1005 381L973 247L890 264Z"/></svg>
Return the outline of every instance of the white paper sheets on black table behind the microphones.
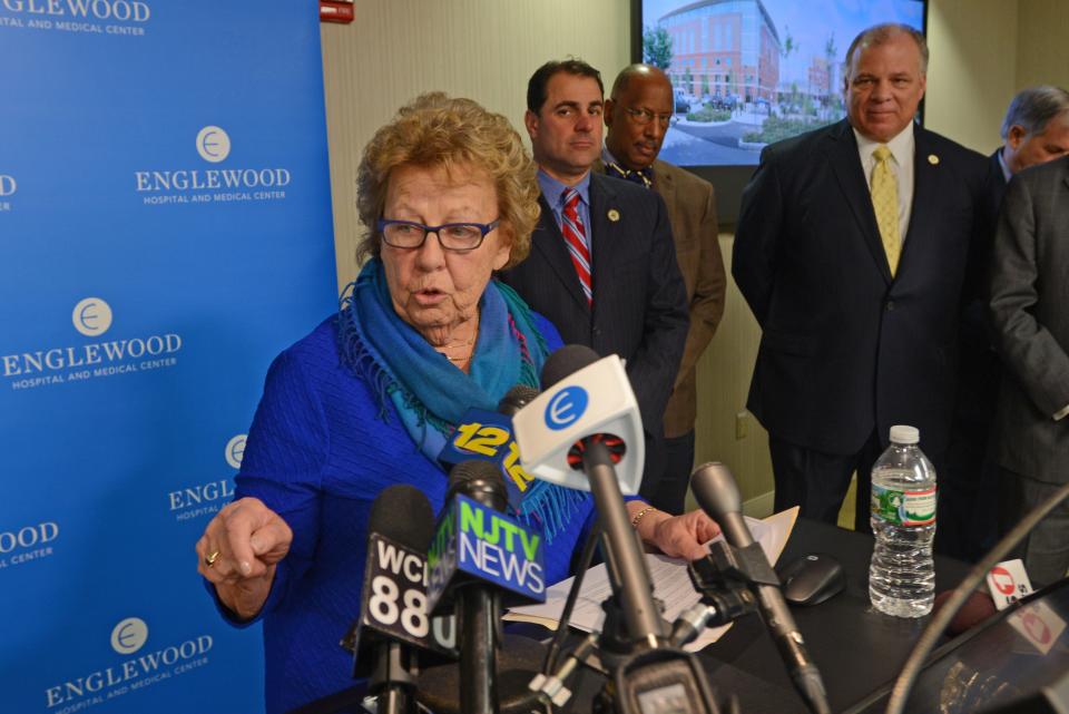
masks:
<svg viewBox="0 0 1069 714"><path fill-rule="evenodd" d="M764 520L747 518L746 524L749 531L754 535L754 540L761 544L762 549L768 557L768 561L775 565L783 552L791 530L794 528L794 521L798 516L797 508L791 508L783 512L769 516ZM715 540L719 540L718 536ZM710 541L713 542L713 541ZM654 584L654 597L665 604L664 618L669 623L675 622L676 617L700 599L690 584L690 576L687 575L687 564L679 558L668 558L658 555L647 555L646 563L649 567L649 576ZM565 600L568 598L568 591L575 578L561 580L550 586L546 590L546 601L541 605L526 605L514 607L506 614L504 619L537 623L550 629L557 629L560 623L560 615L565 609ZM570 625L586 632L600 632L601 622L605 619L605 610L601 609L601 601L612 594L609 585L609 575L605 569L605 564L598 565L587 570L582 579L582 589L579 591L579 598L576 600L576 607L571 612ZM693 643L687 645L690 652L697 652L706 645L709 645L727 632L730 625L706 629Z"/></svg>

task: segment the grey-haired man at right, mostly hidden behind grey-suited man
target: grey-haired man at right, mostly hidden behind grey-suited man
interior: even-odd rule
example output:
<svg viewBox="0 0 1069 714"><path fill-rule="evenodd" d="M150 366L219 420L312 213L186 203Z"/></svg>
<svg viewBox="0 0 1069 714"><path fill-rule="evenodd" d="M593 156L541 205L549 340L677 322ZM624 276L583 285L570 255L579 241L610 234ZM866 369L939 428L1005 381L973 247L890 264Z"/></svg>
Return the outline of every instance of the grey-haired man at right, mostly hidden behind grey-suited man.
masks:
<svg viewBox="0 0 1069 714"><path fill-rule="evenodd" d="M991 154L988 200L989 235L1011 176L1029 166L1069 154L1069 92L1060 87L1023 89L1002 120L1002 146ZM979 560L994 546L998 530L998 466L991 446L1002 363L988 320L990 243L974 251L967 277L962 319L958 400L947 469L940 478L941 505L936 548L962 560Z"/></svg>

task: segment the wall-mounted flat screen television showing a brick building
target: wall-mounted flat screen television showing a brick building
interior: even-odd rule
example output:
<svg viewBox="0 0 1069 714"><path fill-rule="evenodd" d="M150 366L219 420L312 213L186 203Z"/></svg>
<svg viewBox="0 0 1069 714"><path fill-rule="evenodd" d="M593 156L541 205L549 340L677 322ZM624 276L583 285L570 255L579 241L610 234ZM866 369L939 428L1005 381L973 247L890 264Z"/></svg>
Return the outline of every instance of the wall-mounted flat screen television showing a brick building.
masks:
<svg viewBox="0 0 1069 714"><path fill-rule="evenodd" d="M664 69L675 116L660 158L709 180L722 225L765 145L845 116L842 63L879 22L924 31L926 0L631 0L631 60Z"/></svg>

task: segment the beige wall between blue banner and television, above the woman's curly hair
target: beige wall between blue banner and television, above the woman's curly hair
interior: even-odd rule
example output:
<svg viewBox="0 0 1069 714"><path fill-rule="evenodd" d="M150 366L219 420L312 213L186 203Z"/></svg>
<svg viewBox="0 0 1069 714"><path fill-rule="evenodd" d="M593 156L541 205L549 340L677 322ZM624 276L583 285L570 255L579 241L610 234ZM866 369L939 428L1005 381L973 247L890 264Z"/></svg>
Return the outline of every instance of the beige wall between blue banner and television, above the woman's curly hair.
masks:
<svg viewBox="0 0 1069 714"><path fill-rule="evenodd" d="M352 25L323 25L339 285L356 276L360 154L415 96L475 99L523 131L527 79L575 55L611 77L629 58L628 0L360 0Z"/></svg>

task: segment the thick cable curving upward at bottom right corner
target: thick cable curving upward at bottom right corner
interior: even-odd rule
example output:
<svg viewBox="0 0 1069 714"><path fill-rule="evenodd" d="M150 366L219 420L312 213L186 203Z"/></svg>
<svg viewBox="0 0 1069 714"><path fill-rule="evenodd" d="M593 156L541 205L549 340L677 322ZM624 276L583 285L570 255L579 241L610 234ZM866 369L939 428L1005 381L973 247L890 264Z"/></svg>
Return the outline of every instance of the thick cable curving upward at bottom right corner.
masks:
<svg viewBox="0 0 1069 714"><path fill-rule="evenodd" d="M1053 496L1036 507L1032 512L1017 524L1017 526L1014 526L1010 532L1006 534L1002 540L991 549L991 552L978 563L972 570L969 571L969 575L962 579L961 585L958 586L953 595L950 596L943 607L940 608L931 622L928 623L928 627L921 633L921 638L918 639L913 646L913 652L910 653L905 664L902 665L902 672L899 674L899 678L894 681L894 687L891 689L891 698L887 700L886 714L902 714L909 695L913 691L913 684L921 674L921 667L931 654L935 643L939 642L940 635L943 634L943 630L947 629L947 626L958 614L958 610L961 609L961 606L969 599L972 591L983 581L991 568L1001 563L1002 558L1009 555L1010 550L1036 527L1036 524L1046 518L1050 511L1055 510L1067 498L1069 498L1069 483L1059 488Z"/></svg>

